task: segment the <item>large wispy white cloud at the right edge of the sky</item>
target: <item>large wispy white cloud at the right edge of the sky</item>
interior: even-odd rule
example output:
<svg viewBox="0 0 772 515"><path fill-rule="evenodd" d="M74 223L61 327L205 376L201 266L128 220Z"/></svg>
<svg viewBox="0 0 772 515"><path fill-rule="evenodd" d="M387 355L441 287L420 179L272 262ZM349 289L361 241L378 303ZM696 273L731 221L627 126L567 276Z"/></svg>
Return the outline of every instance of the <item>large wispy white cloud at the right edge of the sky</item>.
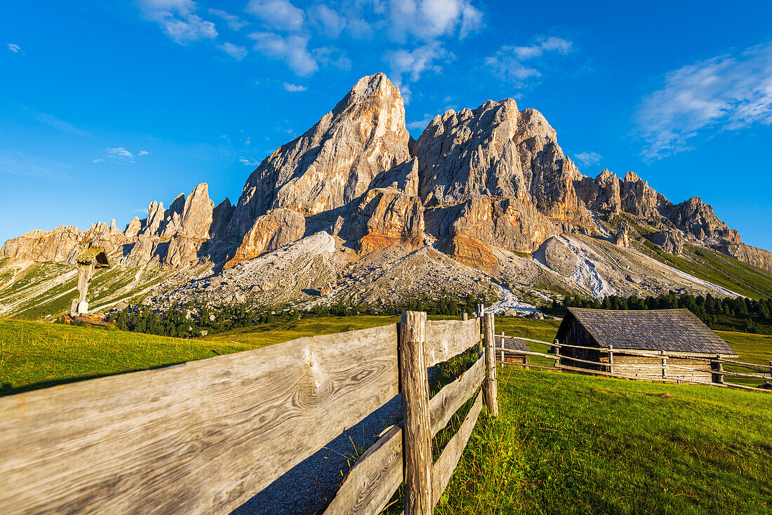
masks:
<svg viewBox="0 0 772 515"><path fill-rule="evenodd" d="M706 130L772 124L772 42L667 73L635 120L648 160L689 150L689 140Z"/></svg>

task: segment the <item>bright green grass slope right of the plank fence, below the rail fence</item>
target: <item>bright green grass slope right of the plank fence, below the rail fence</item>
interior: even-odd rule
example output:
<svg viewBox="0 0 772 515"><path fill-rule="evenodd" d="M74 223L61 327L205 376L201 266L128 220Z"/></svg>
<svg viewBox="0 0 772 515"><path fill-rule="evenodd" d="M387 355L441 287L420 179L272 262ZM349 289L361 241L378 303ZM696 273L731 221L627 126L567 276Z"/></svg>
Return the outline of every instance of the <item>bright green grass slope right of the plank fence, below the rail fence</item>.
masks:
<svg viewBox="0 0 772 515"><path fill-rule="evenodd" d="M770 400L499 369L435 513L770 513Z"/></svg>

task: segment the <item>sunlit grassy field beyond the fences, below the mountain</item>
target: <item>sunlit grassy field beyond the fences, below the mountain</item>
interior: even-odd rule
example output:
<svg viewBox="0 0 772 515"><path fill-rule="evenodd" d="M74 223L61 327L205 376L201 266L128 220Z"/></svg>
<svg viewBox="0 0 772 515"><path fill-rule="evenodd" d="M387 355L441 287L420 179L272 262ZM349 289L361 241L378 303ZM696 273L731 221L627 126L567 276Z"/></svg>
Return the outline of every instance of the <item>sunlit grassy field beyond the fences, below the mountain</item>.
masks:
<svg viewBox="0 0 772 515"><path fill-rule="evenodd" d="M456 317L432 316L433 320ZM25 320L0 320L0 384L2 395L34 388L46 388L71 381L127 371L157 368L182 361L193 361L218 354L248 351L295 338L333 334L395 324L398 317L323 317L279 320L269 324L242 327L213 336L185 339L151 334L106 330L100 327L73 327ZM560 320L528 320L497 317L496 332L532 338L532 351L546 353ZM772 360L772 337L719 331L751 363ZM530 357L530 363L551 365L548 358ZM732 369L727 366L727 369ZM746 371L746 369L736 369ZM742 385L758 385L759 380L733 378Z"/></svg>

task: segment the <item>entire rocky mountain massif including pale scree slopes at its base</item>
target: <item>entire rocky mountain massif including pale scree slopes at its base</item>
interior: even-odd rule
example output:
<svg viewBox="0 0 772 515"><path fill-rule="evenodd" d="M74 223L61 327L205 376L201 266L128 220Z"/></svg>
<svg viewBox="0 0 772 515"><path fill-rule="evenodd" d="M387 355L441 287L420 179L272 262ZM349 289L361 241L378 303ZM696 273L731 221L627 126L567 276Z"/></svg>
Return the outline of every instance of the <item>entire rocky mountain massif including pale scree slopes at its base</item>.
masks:
<svg viewBox="0 0 772 515"><path fill-rule="evenodd" d="M316 239L309 240L312 236ZM595 177L581 174L543 115L520 110L515 100L448 110L413 140L398 87L377 73L357 81L317 124L264 159L235 205L226 198L215 206L202 183L190 195L178 195L168 208L151 202L147 217L135 217L123 231L114 220L86 231L64 225L33 230L8 240L0 258L73 264L83 249L100 245L119 266L154 266L178 275L195 270L188 279L233 275L228 270L237 267L235 275L251 283L239 286L239 299L266 293L266 303L291 301L310 290L351 300L354 285L340 278L357 262L371 263L370 275L362 277L383 271L379 267L388 263L411 273L425 263L427 270L467 277L462 281L467 286L480 283L469 278L484 273L483 282L494 290L503 283L526 286L545 273L551 274L548 284L560 283L557 290L594 296L630 288L705 286L693 277L676 280L666 270L658 276L645 259L627 254L620 259L630 261L628 269L610 264L608 274L598 276L610 252L635 253L631 238L669 253L682 252L685 244L705 246L772 270L772 254L744 245L699 197L673 204L632 172L624 178L608 170ZM301 252L317 249L319 241L324 252ZM607 242L615 249L601 249ZM275 255L279 249L283 253ZM313 269L303 272L313 280L296 278L282 295L269 295L283 283L275 277L276 267L271 268L279 256L306 256L307 263L295 268L283 263L281 269ZM455 265L442 264L442 256ZM261 266L273 271L260 272ZM659 283L636 283L636 269L637 276L648 270ZM432 276L442 274L425 273L430 276L412 293L438 287ZM603 287L593 285L594 276ZM213 294L219 292L219 286L212 286L216 282L205 282ZM188 290L197 291L194 283ZM543 290L548 293L550 287ZM378 293L364 297L371 302Z"/></svg>

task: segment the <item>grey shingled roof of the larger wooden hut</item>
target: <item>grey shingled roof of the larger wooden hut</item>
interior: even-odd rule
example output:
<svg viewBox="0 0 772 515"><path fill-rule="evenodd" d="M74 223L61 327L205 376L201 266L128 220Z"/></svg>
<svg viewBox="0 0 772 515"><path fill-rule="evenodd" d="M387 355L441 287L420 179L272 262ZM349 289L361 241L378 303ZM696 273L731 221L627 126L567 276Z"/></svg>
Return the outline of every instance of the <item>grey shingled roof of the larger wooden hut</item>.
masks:
<svg viewBox="0 0 772 515"><path fill-rule="evenodd" d="M587 310L568 308L558 330L562 337L571 316L598 345L620 349L736 354L732 347L689 310Z"/></svg>

